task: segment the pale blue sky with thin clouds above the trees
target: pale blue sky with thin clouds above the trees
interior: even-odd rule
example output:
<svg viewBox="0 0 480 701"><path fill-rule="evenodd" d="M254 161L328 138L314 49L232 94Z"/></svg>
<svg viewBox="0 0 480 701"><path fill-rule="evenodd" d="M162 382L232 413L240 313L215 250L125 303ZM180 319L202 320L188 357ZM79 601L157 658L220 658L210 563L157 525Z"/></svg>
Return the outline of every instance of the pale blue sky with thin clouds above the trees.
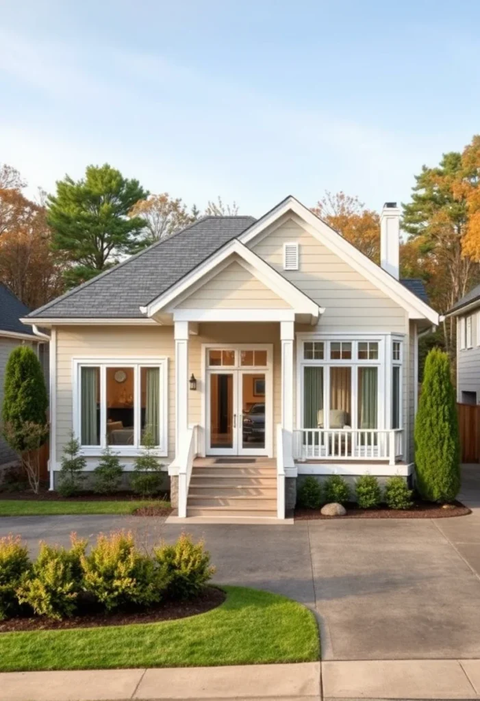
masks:
<svg viewBox="0 0 480 701"><path fill-rule="evenodd" d="M408 200L480 132L480 3L3 0L0 162L33 193L108 162L261 215Z"/></svg>

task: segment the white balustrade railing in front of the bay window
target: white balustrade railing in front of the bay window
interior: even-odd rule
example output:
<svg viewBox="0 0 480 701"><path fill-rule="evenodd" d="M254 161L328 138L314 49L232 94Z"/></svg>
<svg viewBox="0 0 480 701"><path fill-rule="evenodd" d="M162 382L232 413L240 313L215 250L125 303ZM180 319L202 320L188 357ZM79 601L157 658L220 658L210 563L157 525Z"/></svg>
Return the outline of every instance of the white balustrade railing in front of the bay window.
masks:
<svg viewBox="0 0 480 701"><path fill-rule="evenodd" d="M388 460L395 465L403 455L402 428L294 430L295 460Z"/></svg>

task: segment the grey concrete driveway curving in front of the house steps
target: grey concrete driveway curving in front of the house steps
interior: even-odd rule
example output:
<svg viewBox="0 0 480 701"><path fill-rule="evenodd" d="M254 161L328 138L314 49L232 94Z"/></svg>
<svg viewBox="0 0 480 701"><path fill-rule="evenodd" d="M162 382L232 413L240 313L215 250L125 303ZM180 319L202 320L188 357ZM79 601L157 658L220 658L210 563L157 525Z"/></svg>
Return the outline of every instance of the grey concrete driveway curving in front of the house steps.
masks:
<svg viewBox="0 0 480 701"><path fill-rule="evenodd" d="M454 519L299 522L294 526L188 525L204 536L218 583L280 592L313 608L324 660L480 658L480 467L465 468L462 499L472 515ZM128 528L141 543L174 540L160 519L18 517L20 533L68 543Z"/></svg>

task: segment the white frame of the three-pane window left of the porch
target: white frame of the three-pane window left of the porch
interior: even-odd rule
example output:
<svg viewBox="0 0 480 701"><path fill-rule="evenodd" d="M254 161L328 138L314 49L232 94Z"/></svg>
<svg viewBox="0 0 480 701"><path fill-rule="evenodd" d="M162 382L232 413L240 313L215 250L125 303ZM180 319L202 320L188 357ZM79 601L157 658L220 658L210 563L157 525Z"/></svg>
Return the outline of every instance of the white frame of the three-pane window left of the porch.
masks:
<svg viewBox="0 0 480 701"><path fill-rule="evenodd" d="M81 368L100 367L100 445L81 446L81 454L85 457L96 457L102 454L107 447L107 367L132 367L134 371L134 444L132 446L114 446L113 449L122 457L136 457L142 454L143 447L140 444L141 409L141 383L140 368L158 367L160 371L160 444L153 449L153 453L159 457L168 455L168 358L139 358L138 356L111 356L89 355L72 358L73 379L73 430L74 435L81 440Z"/></svg>

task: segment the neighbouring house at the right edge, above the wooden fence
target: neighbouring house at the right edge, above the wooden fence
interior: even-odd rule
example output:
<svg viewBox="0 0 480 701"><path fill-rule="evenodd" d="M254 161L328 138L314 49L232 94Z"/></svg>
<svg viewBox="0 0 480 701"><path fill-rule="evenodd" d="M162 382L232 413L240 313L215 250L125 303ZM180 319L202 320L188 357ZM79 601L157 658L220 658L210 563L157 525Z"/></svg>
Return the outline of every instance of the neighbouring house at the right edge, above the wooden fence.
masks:
<svg viewBox="0 0 480 701"><path fill-rule="evenodd" d="M457 320L457 401L480 404L480 285L445 316Z"/></svg>

